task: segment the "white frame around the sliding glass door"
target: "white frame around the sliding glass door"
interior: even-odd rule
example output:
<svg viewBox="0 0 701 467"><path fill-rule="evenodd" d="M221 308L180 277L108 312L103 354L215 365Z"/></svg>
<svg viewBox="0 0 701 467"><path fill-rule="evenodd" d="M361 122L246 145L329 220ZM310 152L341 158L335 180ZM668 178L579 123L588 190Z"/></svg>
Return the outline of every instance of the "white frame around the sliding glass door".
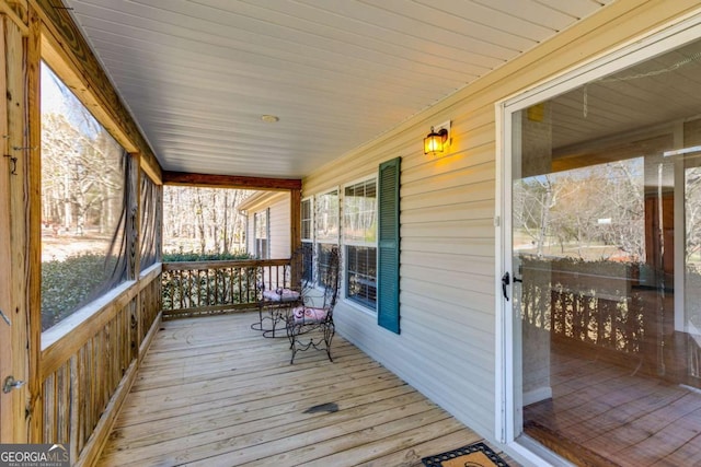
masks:
<svg viewBox="0 0 701 467"><path fill-rule="evenodd" d="M551 77L535 86L495 104L496 127L496 189L495 189L495 427L497 440L513 453L540 466L571 465L528 436L520 436L518 423L521 394L516 385L520 378L520 354L517 352L520 334L510 297L514 282L507 287L509 300L502 291L502 277L512 270L512 153L513 115L531 105L552 98L604 75L622 70L657 55L701 38L701 10L673 21L652 33L629 40L589 61ZM520 437L519 437L520 436Z"/></svg>

